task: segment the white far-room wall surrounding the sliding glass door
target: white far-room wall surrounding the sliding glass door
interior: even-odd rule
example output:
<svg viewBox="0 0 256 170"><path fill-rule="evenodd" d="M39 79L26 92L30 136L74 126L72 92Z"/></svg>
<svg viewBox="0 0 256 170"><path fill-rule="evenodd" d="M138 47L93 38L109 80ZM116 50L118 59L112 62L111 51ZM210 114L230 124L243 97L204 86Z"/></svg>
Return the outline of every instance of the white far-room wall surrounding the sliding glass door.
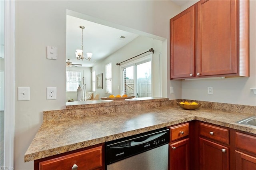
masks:
<svg viewBox="0 0 256 170"><path fill-rule="evenodd" d="M103 80L105 79L105 65L112 62L112 94L118 95L121 94L121 70L119 65L116 65L116 63L120 63L122 61L125 61L126 59L129 59L131 57L134 57L138 54L144 53L148 51L150 48L154 49L154 54L152 57L152 84L153 84L153 96L154 97L161 97L160 96L160 59L159 55L162 53L162 41L160 40L154 40L149 37L145 36L138 36L136 39L134 39L132 42L128 43L103 61L101 61L98 65L95 65L92 70L96 71L96 75L99 73L103 73ZM134 59L138 59L141 57L144 57L146 55L152 54L151 52L145 53L143 55L140 55ZM133 60L134 60L133 59ZM132 61L132 60L130 60ZM124 62L127 63L127 62ZM166 71L165 71L166 73ZM103 81L104 82L104 81ZM119 86L119 89L118 89ZM105 93L105 84L103 85L103 89L96 89L96 93L100 94L100 97L108 97L109 94Z"/></svg>

